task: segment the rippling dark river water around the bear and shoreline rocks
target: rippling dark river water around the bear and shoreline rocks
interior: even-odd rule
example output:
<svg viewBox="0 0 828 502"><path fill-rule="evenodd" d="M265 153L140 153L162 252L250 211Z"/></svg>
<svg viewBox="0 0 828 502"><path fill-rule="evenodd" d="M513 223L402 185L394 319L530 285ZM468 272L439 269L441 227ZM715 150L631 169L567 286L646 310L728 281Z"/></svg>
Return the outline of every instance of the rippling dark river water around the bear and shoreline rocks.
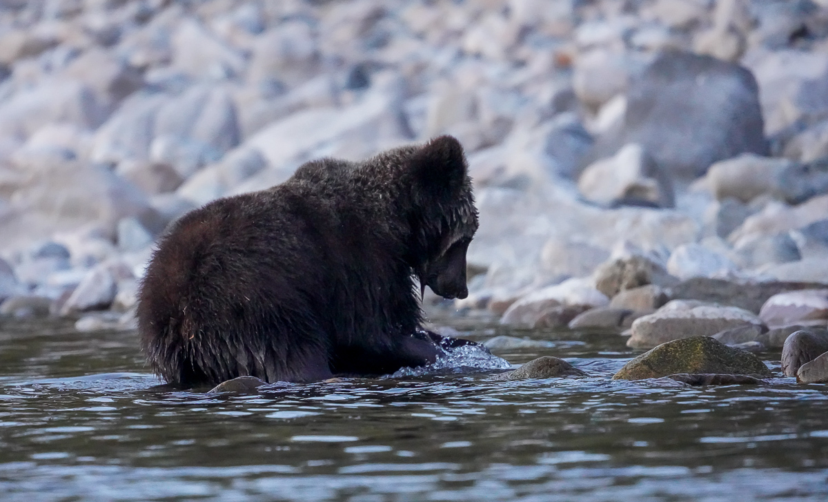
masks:
<svg viewBox="0 0 828 502"><path fill-rule="evenodd" d="M169 392L132 332L0 319L0 500L828 500L826 385L610 381L617 335L448 323L590 376Z"/></svg>

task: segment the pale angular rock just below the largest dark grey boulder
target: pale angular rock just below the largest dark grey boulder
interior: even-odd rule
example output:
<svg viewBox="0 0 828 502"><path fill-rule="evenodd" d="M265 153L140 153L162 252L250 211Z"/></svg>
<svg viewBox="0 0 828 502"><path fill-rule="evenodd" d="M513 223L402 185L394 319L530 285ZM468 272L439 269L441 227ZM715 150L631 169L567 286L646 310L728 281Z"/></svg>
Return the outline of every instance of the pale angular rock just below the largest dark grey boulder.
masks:
<svg viewBox="0 0 828 502"><path fill-rule="evenodd" d="M638 144L590 164L580 175L578 189L586 200L601 205L675 205L670 176Z"/></svg>

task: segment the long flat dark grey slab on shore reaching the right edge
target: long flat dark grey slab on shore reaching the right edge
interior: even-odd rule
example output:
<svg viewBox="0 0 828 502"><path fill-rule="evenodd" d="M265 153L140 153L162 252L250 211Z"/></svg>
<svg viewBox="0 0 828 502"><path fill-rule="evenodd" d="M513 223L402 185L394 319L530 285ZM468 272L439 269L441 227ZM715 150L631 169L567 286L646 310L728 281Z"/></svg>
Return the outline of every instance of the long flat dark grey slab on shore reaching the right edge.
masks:
<svg viewBox="0 0 828 502"><path fill-rule="evenodd" d="M824 287L819 282L750 282L714 278L691 278L670 290L675 299L700 300L744 308L758 313L768 298L781 292Z"/></svg>

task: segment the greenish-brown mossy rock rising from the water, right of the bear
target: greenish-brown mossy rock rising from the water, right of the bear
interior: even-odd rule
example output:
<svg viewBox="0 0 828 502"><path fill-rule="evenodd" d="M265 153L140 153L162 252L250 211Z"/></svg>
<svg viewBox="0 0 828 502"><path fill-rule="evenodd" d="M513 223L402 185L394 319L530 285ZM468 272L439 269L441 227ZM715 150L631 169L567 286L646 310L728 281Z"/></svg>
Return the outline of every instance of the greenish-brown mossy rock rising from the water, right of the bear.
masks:
<svg viewBox="0 0 828 502"><path fill-rule="evenodd" d="M658 379L671 374L715 373L771 376L753 354L724 345L710 336L691 336L658 345L623 365L614 380Z"/></svg>

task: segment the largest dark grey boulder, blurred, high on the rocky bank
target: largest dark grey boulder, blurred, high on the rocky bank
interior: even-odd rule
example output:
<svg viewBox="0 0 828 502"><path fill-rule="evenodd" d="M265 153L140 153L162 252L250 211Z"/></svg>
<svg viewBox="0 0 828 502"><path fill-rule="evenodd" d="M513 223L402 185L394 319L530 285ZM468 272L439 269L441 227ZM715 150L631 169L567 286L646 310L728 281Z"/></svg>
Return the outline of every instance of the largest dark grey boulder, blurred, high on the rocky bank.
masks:
<svg viewBox="0 0 828 502"><path fill-rule="evenodd" d="M605 157L638 143L674 176L696 177L743 152L768 154L758 86L749 70L668 52L629 85L623 128L595 146Z"/></svg>

